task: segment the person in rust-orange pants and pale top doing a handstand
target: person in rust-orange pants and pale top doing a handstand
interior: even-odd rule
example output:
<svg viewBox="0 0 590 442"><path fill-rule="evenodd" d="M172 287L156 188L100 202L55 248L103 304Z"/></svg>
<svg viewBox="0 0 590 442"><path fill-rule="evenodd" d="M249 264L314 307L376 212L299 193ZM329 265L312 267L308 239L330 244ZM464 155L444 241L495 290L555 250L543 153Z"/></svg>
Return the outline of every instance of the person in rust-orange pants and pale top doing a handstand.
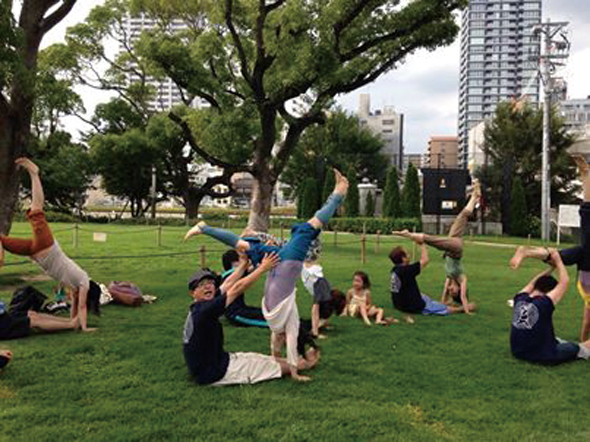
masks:
<svg viewBox="0 0 590 442"><path fill-rule="evenodd" d="M100 287L90 284L86 272L65 255L53 238L43 212L45 196L37 165L28 158L19 158L16 164L26 169L31 177L32 201L27 219L33 229L33 238L0 235L0 261L3 260L4 249L15 255L30 257L45 273L70 290L71 319L77 321L83 331L93 331L95 329L88 328L88 307L99 314Z"/></svg>

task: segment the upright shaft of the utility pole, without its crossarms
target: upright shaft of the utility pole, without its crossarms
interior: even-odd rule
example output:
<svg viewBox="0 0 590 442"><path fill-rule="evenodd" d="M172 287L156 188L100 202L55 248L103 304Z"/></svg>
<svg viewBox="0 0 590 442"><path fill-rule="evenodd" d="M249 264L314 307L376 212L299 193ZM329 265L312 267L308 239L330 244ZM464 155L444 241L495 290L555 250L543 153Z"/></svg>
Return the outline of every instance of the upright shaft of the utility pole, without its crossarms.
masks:
<svg viewBox="0 0 590 442"><path fill-rule="evenodd" d="M543 151L541 157L541 237L543 241L549 241L550 224L549 209L551 208L551 186L549 184L549 147L551 143L550 112L551 112L551 73L549 66L549 50L551 46L550 24L547 20L547 32L544 32L543 42Z"/></svg>

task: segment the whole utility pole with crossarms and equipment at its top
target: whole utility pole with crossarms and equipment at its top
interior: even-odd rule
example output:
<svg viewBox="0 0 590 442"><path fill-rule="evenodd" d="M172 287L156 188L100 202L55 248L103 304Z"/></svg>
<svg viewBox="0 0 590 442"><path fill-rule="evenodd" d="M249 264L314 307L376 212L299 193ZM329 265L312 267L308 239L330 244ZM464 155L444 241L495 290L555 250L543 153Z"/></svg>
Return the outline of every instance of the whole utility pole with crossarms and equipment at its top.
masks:
<svg viewBox="0 0 590 442"><path fill-rule="evenodd" d="M549 150L551 147L551 94L553 92L553 74L558 67L565 65L569 57L570 42L567 38L568 22L551 22L547 19L533 27L534 35L543 36L543 49L539 55L531 58L540 64L543 81L543 150L541 156L541 236L543 241L549 240L551 224L551 176Z"/></svg>

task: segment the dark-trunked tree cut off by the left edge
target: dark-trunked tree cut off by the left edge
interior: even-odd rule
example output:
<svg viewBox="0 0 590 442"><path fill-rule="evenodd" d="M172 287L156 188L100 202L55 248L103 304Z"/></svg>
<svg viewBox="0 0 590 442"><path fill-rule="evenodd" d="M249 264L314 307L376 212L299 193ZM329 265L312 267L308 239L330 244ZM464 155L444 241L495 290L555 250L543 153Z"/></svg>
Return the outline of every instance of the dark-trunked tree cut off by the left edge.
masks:
<svg viewBox="0 0 590 442"><path fill-rule="evenodd" d="M76 0L23 0L0 4L0 232L10 229L19 193L14 160L27 153L35 105L39 47Z"/></svg>

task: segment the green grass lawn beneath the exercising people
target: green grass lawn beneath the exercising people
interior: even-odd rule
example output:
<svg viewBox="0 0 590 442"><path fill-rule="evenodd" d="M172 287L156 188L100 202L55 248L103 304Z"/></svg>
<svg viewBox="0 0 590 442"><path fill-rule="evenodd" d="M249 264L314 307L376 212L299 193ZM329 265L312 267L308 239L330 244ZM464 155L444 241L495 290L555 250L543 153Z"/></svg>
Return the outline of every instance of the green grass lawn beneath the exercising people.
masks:
<svg viewBox="0 0 590 442"><path fill-rule="evenodd" d="M190 304L186 280L199 265L199 246L211 250L208 265L215 269L223 246L201 237L183 244L183 228L166 228L158 247L153 229L83 227L78 248L71 231L56 233L70 256L195 253L79 260L93 279L134 281L158 301L137 309L104 307L100 319L90 320L99 327L94 334L0 342L15 353L0 375L0 440L590 440L590 362L546 368L510 355L506 300L543 268L530 262L509 270L510 248L467 245L469 294L480 306L475 316L416 317L415 325L387 328L335 318L329 339L320 341L313 382L213 388L189 379L182 327ZM92 241L93 228L109 232L106 243ZM17 224L13 232L28 235L29 229ZM355 270L367 271L374 303L399 318L388 292L387 252L403 241L382 237L375 253L371 239L361 265L353 236L339 234L337 248L331 233L324 239L322 264L332 284L345 290ZM430 250L431 265L419 282L438 298L444 266L441 253ZM32 264L2 268L0 298L9 300L15 286L25 285L21 276L38 273ZM45 293L54 286L32 284ZM260 304L261 288L250 291L250 304ZM308 318L310 296L301 283L298 304ZM572 287L555 313L559 336L577 339L581 315L582 300ZM268 352L268 331L225 323L224 332L229 351Z"/></svg>

